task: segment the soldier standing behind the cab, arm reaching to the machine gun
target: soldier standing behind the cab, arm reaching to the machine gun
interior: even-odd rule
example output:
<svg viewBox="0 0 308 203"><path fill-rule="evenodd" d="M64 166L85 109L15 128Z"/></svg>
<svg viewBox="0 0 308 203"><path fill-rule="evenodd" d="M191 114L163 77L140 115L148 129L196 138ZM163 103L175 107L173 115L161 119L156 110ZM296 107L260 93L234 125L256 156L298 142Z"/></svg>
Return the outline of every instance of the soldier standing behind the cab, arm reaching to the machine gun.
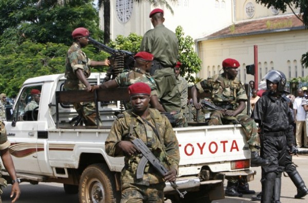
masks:
<svg viewBox="0 0 308 203"><path fill-rule="evenodd" d="M76 28L72 32L72 37L75 40L69 48L65 61L65 90L86 89L91 91L91 85L87 78L91 74L90 66L109 65L109 60L94 61L90 60L81 48L88 45L89 31L86 28ZM94 102L73 103L78 115L82 118L87 126L95 126L96 112ZM100 124L99 124L100 125Z"/></svg>

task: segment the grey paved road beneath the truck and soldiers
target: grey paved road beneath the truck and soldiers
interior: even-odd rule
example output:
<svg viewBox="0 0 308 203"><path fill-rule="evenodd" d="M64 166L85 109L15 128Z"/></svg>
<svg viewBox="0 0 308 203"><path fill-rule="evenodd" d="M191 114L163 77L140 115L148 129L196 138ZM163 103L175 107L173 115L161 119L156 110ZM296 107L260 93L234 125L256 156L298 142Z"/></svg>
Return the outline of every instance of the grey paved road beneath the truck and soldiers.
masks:
<svg viewBox="0 0 308 203"><path fill-rule="evenodd" d="M306 185L308 185L308 155L299 155L293 157L293 161L297 164L298 171ZM249 182L249 186L251 190L256 190L256 192L261 191L261 170L260 168L253 168L257 171L257 175L255 176L255 180ZM225 182L226 186L226 182ZM2 195L3 203L9 203L9 192L11 190L11 186L4 189L4 194ZM38 185L30 185L28 183L21 184L22 195L20 199L17 201L18 203L78 203L78 195L67 195L64 193L64 189L62 184L43 184L40 183ZM296 188L293 185L291 179L289 177L282 177L282 191L281 191L281 202L283 203L304 203L307 202L308 196L305 199L294 199L294 195L296 194ZM243 197L226 197L222 200L214 200L212 203L252 203L250 200L252 195L244 195ZM166 203L170 203L170 201L166 201ZM199 203L199 202L198 202ZM202 203L202 202L200 202Z"/></svg>

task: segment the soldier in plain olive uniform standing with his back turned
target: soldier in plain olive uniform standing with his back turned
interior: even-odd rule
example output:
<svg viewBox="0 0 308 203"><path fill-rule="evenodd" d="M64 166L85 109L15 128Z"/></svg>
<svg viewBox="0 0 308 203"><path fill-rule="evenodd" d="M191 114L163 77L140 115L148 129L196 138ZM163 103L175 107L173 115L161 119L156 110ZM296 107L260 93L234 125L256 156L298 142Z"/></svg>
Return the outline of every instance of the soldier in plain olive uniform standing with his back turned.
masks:
<svg viewBox="0 0 308 203"><path fill-rule="evenodd" d="M154 9L150 12L154 29L147 31L140 44L140 51L154 55L151 76L157 83L157 92L167 112L181 110L181 97L174 73L179 54L179 41L174 32L167 29L164 11Z"/></svg>

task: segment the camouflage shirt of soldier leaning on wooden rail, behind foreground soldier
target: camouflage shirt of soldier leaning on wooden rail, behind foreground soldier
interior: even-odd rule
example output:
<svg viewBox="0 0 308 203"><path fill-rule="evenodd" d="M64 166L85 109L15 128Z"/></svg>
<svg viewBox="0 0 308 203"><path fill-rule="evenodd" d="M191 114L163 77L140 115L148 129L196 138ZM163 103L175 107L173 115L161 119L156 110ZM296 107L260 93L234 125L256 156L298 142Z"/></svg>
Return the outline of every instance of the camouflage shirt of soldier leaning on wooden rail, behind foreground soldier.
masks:
<svg viewBox="0 0 308 203"><path fill-rule="evenodd" d="M157 95L155 80L150 74L138 67L135 67L132 71L124 71L115 78L115 82L117 82L120 87L127 87L136 82L144 82L151 87L151 95Z"/></svg>

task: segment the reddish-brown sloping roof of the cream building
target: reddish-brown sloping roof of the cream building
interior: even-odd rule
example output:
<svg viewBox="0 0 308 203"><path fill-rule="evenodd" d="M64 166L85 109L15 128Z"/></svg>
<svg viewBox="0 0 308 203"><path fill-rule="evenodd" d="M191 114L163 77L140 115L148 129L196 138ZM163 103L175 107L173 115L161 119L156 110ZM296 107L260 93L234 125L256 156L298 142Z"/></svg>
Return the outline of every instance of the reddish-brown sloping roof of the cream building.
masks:
<svg viewBox="0 0 308 203"><path fill-rule="evenodd" d="M218 32L210 34L204 39L237 37L301 29L304 29L303 22L292 14L238 22L237 24L228 26Z"/></svg>

